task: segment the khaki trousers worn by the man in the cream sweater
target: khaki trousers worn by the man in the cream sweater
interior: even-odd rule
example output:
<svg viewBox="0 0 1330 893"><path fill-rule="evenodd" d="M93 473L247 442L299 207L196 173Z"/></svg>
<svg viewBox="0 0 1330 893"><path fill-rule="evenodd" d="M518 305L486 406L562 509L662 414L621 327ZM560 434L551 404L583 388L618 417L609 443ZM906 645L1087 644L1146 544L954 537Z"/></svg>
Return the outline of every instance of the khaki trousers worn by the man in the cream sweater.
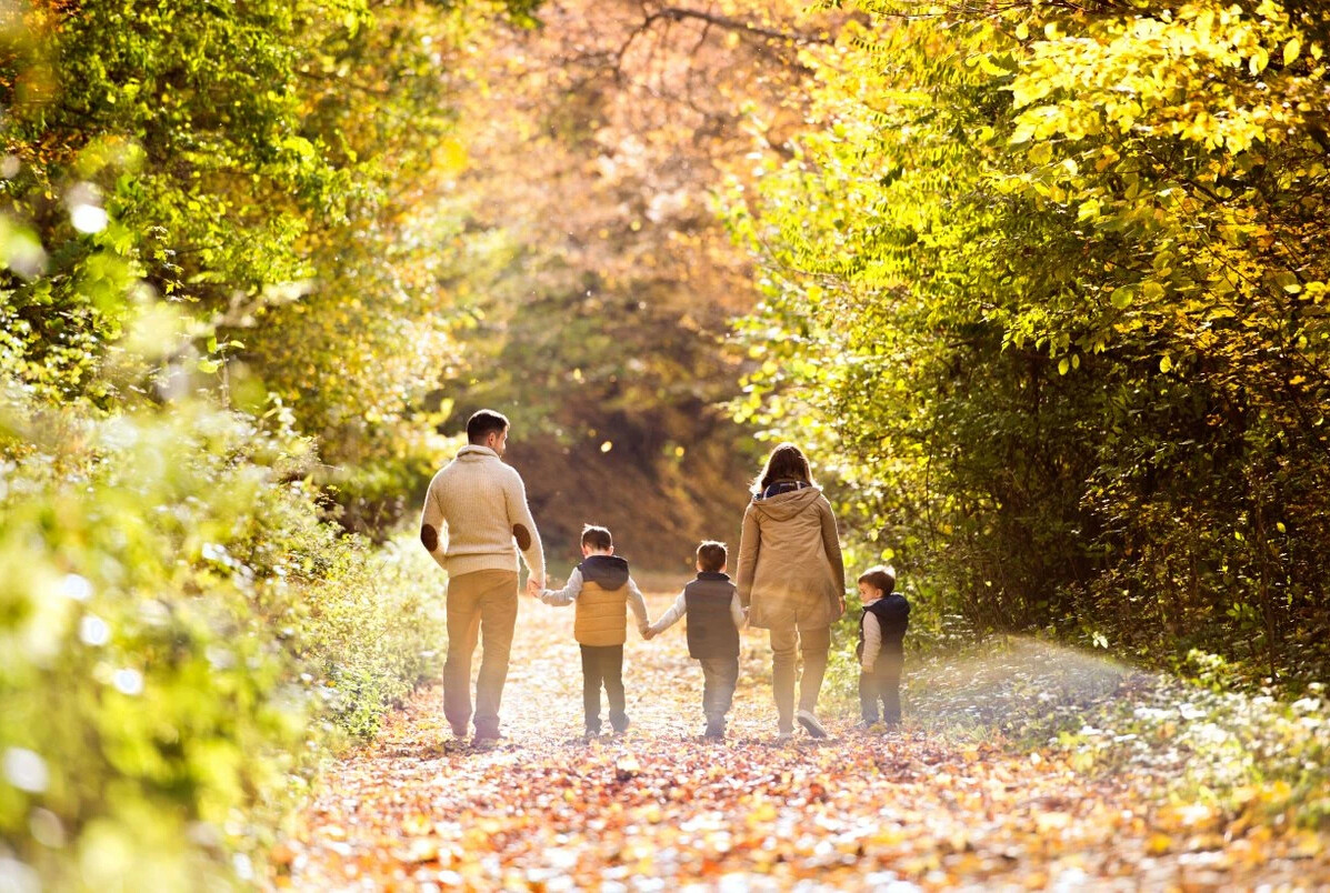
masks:
<svg viewBox="0 0 1330 893"><path fill-rule="evenodd" d="M476 679L476 735L499 735L499 702L517 626L517 574L476 570L448 579L448 659L443 664L443 715L454 735L471 719L471 655L484 641Z"/></svg>

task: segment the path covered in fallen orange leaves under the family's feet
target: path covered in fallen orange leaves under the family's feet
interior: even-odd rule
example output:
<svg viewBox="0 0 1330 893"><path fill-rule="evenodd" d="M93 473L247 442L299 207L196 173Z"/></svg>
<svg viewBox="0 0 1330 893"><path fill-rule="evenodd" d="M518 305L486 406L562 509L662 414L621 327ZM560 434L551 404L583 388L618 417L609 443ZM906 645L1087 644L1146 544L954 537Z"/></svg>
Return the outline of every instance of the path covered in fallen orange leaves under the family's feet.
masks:
<svg viewBox="0 0 1330 893"><path fill-rule="evenodd" d="M666 598L649 598L653 617ZM777 743L767 655L763 634L745 637L730 739L706 743L701 671L686 656L682 629L653 642L630 638L625 686L633 727L584 743L572 611L524 601L501 745L455 745L442 690L419 692L378 742L326 776L297 836L273 852L270 882L305 889L1330 884L1322 836L1279 816L1253 823L1246 813L1164 797L1166 785L1136 763L1085 772L1075 748L1031 752L974 731L942 732L938 722L861 735L845 704L822 711L830 740ZM974 668L976 691L1000 688L1003 679L1020 684L1021 667L995 666ZM1077 666L1091 672L1089 663ZM1096 684L1093 698L1101 700L1105 690L1130 696L1138 680L1109 672L1097 674ZM1065 691L1041 691L1033 700L1053 714L1080 691L1069 680ZM936 716L946 707L938 698L916 700ZM974 712L967 704L958 710Z"/></svg>

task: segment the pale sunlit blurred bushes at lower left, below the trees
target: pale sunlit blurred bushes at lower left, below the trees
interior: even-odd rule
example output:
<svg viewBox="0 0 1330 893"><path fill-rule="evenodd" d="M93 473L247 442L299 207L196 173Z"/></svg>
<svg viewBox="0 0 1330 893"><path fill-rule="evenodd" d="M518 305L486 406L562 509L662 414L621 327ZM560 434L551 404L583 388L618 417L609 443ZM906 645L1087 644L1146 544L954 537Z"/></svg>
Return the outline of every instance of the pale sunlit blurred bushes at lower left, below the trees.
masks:
<svg viewBox="0 0 1330 893"><path fill-rule="evenodd" d="M57 886L243 877L323 748L432 672L435 569L321 521L309 443L251 417L8 397L0 849Z"/></svg>

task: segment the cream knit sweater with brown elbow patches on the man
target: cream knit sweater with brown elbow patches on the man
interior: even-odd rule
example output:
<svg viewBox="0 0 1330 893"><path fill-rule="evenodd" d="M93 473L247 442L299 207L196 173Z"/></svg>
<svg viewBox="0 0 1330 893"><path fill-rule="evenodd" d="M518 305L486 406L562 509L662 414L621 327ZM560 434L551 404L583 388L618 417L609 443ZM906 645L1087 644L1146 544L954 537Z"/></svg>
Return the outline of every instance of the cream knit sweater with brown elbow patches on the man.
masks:
<svg viewBox="0 0 1330 893"><path fill-rule="evenodd" d="M516 573L520 547L531 575L545 579L545 554L527 488L516 469L488 446L464 446L434 476L420 525L439 533L430 554L451 577L476 570Z"/></svg>

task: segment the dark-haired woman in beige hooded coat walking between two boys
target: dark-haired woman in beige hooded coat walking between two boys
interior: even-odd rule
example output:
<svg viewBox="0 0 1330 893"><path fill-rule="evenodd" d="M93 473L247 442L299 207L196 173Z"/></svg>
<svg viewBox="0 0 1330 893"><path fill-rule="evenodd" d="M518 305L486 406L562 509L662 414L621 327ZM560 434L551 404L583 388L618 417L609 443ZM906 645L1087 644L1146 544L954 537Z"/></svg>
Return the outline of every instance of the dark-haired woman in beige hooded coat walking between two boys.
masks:
<svg viewBox="0 0 1330 893"><path fill-rule="evenodd" d="M739 601L749 625L771 631L771 690L779 738L798 719L826 738L814 710L831 650L831 625L845 613L845 563L831 504L813 482L794 444L771 450L753 484L739 540ZM799 710L794 711L795 651L803 655Z"/></svg>

